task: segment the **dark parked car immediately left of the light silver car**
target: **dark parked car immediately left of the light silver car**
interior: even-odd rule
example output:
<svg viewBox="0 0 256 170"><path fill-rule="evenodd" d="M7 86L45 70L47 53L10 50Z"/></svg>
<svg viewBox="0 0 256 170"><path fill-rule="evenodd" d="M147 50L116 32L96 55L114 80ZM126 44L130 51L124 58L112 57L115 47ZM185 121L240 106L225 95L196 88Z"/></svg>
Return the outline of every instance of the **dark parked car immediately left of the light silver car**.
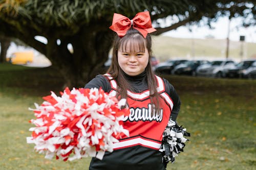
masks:
<svg viewBox="0 0 256 170"><path fill-rule="evenodd" d="M181 63L175 66L174 69L172 70L172 74L196 76L197 67L207 63L210 63L210 62L206 60L186 61L184 63Z"/></svg>

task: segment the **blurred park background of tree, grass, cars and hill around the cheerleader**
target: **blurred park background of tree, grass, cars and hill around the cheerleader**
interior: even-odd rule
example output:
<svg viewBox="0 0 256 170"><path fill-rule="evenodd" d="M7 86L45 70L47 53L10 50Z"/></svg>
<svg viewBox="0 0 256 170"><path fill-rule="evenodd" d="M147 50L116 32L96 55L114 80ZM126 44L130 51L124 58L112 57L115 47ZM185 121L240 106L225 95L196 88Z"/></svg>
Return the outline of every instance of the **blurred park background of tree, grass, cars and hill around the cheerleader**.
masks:
<svg viewBox="0 0 256 170"><path fill-rule="evenodd" d="M174 85L191 133L167 169L255 169L254 1L0 1L0 169L88 169L26 143L34 103L111 64L113 13L149 11L155 73Z"/></svg>

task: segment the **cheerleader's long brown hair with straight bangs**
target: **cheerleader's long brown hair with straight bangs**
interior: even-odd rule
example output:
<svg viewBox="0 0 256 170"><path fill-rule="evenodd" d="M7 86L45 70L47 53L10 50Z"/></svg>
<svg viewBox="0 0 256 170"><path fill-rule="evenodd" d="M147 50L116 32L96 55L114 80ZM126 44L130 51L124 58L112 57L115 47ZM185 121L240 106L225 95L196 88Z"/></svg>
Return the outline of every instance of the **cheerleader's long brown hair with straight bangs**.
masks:
<svg viewBox="0 0 256 170"><path fill-rule="evenodd" d="M152 58L152 39L151 36L147 34L146 38L144 38L139 31L136 29L129 29L124 37L120 38L116 36L113 42L113 56L112 63L110 68L106 71L109 73L114 80L116 80L118 89L117 89L117 98L118 99L126 99L127 97L127 89L132 90L130 84L126 81L124 77L124 72L118 64L118 51L125 52L145 52L145 47L148 50L149 59L147 66L145 68L148 89L150 90L150 100L151 103L155 106L156 111L160 110L159 98L160 95L157 92L157 83L156 77L151 67L150 60Z"/></svg>

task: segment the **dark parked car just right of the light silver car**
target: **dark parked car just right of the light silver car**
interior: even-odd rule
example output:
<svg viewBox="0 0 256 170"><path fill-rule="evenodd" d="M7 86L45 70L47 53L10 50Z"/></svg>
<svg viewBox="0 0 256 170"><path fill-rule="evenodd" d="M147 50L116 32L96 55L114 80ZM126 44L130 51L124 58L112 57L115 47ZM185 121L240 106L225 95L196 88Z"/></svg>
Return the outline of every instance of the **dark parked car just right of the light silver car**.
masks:
<svg viewBox="0 0 256 170"><path fill-rule="evenodd" d="M251 67L250 69L253 68L253 64L255 63L256 59L251 59L251 60L244 60L241 61L236 65L235 68L228 69L226 72L226 76L229 78L242 78L246 77L247 75L247 69ZM249 70L250 70L249 69ZM253 72L251 73L253 75Z"/></svg>

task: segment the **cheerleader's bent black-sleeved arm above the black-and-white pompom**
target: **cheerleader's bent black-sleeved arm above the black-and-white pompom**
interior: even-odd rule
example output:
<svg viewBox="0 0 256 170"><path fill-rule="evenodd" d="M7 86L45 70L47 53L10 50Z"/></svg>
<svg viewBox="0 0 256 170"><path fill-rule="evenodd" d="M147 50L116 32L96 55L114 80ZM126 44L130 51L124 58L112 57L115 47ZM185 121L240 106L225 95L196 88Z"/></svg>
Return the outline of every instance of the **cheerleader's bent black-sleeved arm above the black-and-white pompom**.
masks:
<svg viewBox="0 0 256 170"><path fill-rule="evenodd" d="M176 121L180 111L180 105L181 105L180 97L172 84L170 84L166 79L163 79L163 81L165 84L165 90L167 94L170 96L170 98L174 102L174 107L170 115L172 116L172 120Z"/></svg>

